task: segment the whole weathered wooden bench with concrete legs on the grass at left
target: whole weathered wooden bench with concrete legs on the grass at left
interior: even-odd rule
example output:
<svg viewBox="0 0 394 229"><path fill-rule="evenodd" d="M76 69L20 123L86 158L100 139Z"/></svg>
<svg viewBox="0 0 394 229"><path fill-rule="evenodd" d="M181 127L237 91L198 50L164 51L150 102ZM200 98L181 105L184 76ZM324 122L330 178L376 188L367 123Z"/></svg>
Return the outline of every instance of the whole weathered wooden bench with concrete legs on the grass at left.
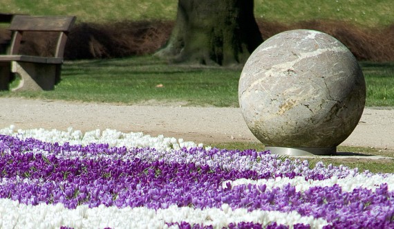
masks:
<svg viewBox="0 0 394 229"><path fill-rule="evenodd" d="M62 71L64 46L67 35L76 17L40 17L15 15L9 30L12 40L8 55L0 55L0 90L9 90L9 82L13 73L21 76L19 90L53 90L55 82L60 79ZM56 32L57 45L53 57L40 57L19 54L19 47L24 32Z"/></svg>

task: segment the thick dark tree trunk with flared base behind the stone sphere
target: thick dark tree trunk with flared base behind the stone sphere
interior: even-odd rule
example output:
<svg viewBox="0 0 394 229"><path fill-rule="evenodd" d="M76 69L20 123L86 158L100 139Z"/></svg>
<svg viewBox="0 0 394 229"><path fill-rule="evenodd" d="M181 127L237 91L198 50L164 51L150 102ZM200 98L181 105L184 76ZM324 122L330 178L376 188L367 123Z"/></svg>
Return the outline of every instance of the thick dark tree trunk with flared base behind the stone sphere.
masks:
<svg viewBox="0 0 394 229"><path fill-rule="evenodd" d="M263 42L253 0L178 0L176 24L156 55L187 64L245 64Z"/></svg>

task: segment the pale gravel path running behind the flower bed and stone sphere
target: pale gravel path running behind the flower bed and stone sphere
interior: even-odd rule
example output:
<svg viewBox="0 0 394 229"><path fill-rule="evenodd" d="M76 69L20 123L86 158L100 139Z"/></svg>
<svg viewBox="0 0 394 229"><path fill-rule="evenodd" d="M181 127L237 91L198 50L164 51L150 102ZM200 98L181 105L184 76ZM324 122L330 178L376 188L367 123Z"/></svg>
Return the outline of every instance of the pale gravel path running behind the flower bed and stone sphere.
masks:
<svg viewBox="0 0 394 229"><path fill-rule="evenodd" d="M183 138L196 143L258 142L238 108L125 106L102 103L0 98L0 129L117 129ZM341 145L394 150L394 109L364 109L353 134Z"/></svg>

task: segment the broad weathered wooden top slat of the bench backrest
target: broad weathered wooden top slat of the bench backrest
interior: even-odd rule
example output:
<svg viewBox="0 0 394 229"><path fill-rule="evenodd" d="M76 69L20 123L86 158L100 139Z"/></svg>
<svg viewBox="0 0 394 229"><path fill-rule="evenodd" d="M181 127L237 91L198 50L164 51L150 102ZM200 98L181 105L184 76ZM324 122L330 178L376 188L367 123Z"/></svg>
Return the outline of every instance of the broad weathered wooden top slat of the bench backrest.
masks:
<svg viewBox="0 0 394 229"><path fill-rule="evenodd" d="M10 30L69 31L76 17L15 15Z"/></svg>

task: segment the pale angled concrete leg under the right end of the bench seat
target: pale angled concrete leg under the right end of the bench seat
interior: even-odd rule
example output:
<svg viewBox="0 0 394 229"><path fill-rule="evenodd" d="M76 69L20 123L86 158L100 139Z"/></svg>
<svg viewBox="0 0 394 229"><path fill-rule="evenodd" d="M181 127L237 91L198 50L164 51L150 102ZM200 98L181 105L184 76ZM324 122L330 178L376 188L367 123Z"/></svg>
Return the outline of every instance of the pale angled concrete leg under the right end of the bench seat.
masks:
<svg viewBox="0 0 394 229"><path fill-rule="evenodd" d="M12 91L50 91L55 88L57 64L12 62L12 72L21 76L21 82Z"/></svg>

